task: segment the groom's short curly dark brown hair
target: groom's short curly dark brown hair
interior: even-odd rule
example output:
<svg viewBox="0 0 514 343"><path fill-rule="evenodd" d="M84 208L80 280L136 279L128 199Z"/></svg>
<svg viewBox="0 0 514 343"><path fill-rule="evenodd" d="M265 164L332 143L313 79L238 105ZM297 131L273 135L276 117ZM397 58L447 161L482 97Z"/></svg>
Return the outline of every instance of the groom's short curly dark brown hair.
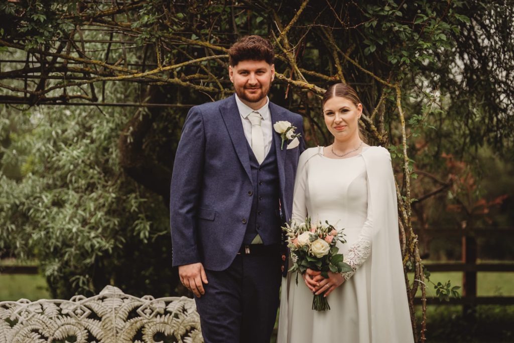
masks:
<svg viewBox="0 0 514 343"><path fill-rule="evenodd" d="M245 35L228 49L229 63L233 67L245 60L266 61L273 64L275 52L271 43L259 35Z"/></svg>

